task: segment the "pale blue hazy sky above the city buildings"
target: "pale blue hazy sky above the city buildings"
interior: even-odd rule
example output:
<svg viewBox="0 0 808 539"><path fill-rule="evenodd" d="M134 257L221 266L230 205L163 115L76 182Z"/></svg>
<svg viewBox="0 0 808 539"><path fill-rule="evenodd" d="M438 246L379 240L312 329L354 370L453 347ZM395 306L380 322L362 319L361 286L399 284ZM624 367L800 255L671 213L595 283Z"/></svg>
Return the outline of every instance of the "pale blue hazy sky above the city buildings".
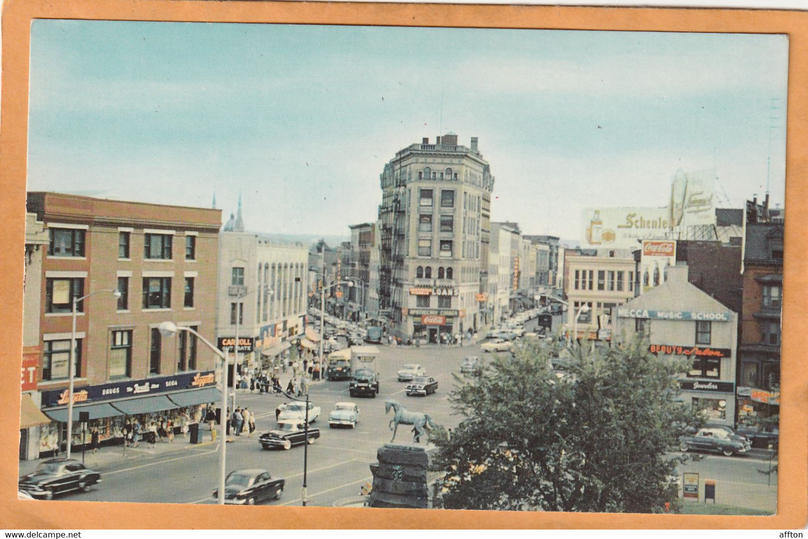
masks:
<svg viewBox="0 0 808 539"><path fill-rule="evenodd" d="M375 221L396 151L457 133L494 221L582 236L581 210L785 196L778 35L36 20L28 189L210 207L246 228Z"/></svg>

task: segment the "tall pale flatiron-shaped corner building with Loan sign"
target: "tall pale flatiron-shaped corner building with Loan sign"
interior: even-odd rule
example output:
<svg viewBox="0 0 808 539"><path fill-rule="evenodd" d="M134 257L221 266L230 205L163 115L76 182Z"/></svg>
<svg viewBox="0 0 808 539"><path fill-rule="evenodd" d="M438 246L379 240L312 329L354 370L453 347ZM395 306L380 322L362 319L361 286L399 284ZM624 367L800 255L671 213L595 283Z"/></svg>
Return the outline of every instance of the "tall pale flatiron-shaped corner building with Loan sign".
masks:
<svg viewBox="0 0 808 539"><path fill-rule="evenodd" d="M424 138L396 152L380 175L380 313L393 335L468 334L486 310L494 177L478 139Z"/></svg>

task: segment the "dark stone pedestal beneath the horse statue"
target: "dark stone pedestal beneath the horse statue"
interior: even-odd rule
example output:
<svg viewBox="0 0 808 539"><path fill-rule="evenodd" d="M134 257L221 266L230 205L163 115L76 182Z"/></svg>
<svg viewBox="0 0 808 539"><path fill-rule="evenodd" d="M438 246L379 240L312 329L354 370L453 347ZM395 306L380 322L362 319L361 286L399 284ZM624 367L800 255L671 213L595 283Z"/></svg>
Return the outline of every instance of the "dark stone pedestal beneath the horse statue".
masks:
<svg viewBox="0 0 808 539"><path fill-rule="evenodd" d="M377 451L378 462L370 465L373 488L368 507L440 507L430 472L437 448L432 444L385 444Z"/></svg>

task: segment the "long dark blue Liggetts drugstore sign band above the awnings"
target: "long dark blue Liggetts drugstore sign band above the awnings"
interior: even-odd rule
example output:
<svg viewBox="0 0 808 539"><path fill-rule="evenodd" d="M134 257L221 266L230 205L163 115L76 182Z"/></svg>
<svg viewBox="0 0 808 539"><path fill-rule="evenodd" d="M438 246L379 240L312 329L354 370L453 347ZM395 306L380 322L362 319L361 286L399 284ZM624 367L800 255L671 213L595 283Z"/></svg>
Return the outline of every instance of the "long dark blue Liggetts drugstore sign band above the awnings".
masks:
<svg viewBox="0 0 808 539"><path fill-rule="evenodd" d="M109 401L137 395L166 393L166 391L196 390L215 383L216 379L213 371L203 371L201 373L177 374L172 377L155 377L112 384L88 385L73 392L73 403ZM68 390L42 392L43 408L65 406L67 401Z"/></svg>

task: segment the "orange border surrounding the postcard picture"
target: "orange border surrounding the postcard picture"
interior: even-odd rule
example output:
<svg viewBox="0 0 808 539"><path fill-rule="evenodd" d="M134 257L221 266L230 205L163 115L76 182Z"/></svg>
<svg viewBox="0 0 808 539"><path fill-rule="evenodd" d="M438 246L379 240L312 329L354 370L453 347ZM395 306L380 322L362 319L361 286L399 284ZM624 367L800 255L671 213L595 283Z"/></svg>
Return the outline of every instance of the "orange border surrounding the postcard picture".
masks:
<svg viewBox="0 0 808 539"><path fill-rule="evenodd" d="M0 528L802 528L808 513L806 440L808 370L801 369L800 305L808 305L805 254L808 205L808 13L681 8L610 8L322 2L194 2L170 0L5 0L2 13L0 124L0 323L22 326L26 192L27 84L32 19L122 19L250 23L553 28L669 32L749 32L789 35L789 103L783 318L781 470L776 516L672 516L602 513L456 512L312 507L217 507L16 499L20 331L7 331L0 388ZM14 255L18 253L19 256ZM802 343L802 344L800 344ZM804 365L804 363L803 363ZM801 372L802 371L802 372ZM10 404L9 404L10 403ZM312 518L312 512L316 517ZM148 514L147 520L143 515ZM240 518L234 519L238 514ZM248 516L248 518L243 518Z"/></svg>

